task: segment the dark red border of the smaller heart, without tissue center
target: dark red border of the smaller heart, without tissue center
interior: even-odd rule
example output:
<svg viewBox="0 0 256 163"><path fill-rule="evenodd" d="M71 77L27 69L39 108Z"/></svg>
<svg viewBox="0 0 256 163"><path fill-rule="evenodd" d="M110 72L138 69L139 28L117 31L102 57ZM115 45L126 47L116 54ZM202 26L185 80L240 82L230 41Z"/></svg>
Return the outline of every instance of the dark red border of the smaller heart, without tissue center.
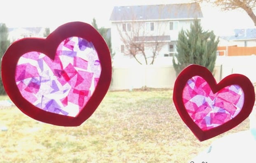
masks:
<svg viewBox="0 0 256 163"><path fill-rule="evenodd" d="M222 88L226 86L234 84L239 85L244 92L244 104L241 111L237 114L237 116L235 116L228 122L223 123L222 125L214 127L212 129L205 131L200 129L200 127L198 127L198 125L196 125L192 118L189 116L189 113L187 113L185 105L182 101L182 92L186 85L186 82L193 76L200 76L203 79L205 79L205 81L209 84L210 88L212 89L213 93L220 91ZM251 113L252 108L254 106L254 101L254 86L246 76L241 74L228 75L217 84L216 80L212 76L212 73L207 68L194 64L186 67L182 72L180 72L175 81L173 89L173 102L180 117L200 141L213 138L214 136L222 134L239 125Z"/></svg>

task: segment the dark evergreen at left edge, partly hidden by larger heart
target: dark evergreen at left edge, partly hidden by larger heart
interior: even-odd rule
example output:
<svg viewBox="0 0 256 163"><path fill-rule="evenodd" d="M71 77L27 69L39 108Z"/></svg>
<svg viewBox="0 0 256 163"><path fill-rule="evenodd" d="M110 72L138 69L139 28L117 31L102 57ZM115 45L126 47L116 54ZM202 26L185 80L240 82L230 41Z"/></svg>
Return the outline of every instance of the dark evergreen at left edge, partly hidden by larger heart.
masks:
<svg viewBox="0 0 256 163"><path fill-rule="evenodd" d="M10 45L10 41L8 40L8 28L4 23L0 23L0 57L1 58L5 54L9 45ZM2 84L2 77L0 78L0 94L1 95L6 94Z"/></svg>

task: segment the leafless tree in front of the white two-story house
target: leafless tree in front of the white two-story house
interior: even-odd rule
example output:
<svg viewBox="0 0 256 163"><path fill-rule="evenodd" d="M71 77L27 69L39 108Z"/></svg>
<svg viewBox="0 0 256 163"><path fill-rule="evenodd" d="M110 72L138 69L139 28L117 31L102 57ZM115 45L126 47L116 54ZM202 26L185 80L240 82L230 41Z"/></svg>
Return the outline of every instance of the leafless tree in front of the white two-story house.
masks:
<svg viewBox="0 0 256 163"><path fill-rule="evenodd" d="M128 14L127 14L128 15ZM129 13L129 16L133 13ZM123 15L125 17L126 14ZM130 21L123 21L116 24L121 41L123 43L124 54L132 56L140 64L143 61L146 65L154 64L156 56L159 54L164 41L170 41L170 35L165 36L165 25L159 22L138 21L132 18Z"/></svg>

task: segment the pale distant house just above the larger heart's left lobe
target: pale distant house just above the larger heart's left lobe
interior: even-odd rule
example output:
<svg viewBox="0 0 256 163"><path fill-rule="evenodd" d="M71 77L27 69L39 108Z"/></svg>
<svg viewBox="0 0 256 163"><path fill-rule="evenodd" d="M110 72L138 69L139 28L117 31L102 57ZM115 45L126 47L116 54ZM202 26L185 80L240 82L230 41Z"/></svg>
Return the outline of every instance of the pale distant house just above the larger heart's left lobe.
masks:
<svg viewBox="0 0 256 163"><path fill-rule="evenodd" d="M9 28L9 40L14 42L25 37L43 37L44 27Z"/></svg>

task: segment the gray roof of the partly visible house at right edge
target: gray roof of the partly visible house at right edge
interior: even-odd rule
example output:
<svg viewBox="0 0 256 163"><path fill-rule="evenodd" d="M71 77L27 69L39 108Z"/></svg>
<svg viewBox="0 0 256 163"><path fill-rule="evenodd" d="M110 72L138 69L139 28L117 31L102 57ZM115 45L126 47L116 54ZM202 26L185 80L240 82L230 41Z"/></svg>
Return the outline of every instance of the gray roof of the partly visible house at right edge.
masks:
<svg viewBox="0 0 256 163"><path fill-rule="evenodd" d="M225 40L254 40L256 39L256 29L234 29L234 35L220 37Z"/></svg>

